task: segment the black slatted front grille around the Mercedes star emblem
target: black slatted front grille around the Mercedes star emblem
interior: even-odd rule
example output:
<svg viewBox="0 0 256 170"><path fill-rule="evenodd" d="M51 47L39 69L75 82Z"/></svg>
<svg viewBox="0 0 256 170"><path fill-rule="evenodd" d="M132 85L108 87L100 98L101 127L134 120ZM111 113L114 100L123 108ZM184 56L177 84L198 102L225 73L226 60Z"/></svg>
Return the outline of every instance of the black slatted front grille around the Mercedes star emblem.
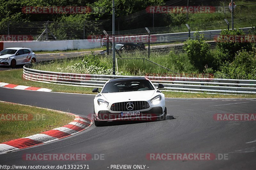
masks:
<svg viewBox="0 0 256 170"><path fill-rule="evenodd" d="M133 109L128 110L126 105L127 103L133 104ZM129 106L129 104L128 104ZM110 107L110 110L112 111L132 111L132 110L142 110L149 108L149 104L147 101L125 101L125 102L119 102L119 103L113 103Z"/></svg>

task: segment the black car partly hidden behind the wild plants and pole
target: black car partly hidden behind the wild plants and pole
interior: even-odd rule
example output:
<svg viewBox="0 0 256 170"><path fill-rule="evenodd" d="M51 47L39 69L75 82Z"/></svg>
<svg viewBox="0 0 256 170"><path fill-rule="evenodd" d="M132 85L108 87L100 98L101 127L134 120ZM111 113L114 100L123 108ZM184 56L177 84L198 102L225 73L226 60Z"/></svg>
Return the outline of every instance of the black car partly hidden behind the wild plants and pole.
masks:
<svg viewBox="0 0 256 170"><path fill-rule="evenodd" d="M133 52L135 50L146 50L145 44L143 42L139 43L116 43L115 45L116 50L118 52ZM109 52L112 52L113 48L109 49ZM107 50L101 51L100 54L106 54Z"/></svg>

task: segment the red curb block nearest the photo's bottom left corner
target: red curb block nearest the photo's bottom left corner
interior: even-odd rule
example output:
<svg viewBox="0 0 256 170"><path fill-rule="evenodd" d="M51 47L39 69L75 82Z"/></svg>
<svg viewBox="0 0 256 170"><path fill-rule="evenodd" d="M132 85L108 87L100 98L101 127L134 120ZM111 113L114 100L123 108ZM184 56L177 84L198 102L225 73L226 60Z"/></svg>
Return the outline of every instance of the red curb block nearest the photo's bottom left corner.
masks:
<svg viewBox="0 0 256 170"><path fill-rule="evenodd" d="M27 148L30 146L34 146L37 144L42 144L42 142L33 140L33 139L29 139L29 138L19 138L19 139L14 139L8 142L4 142L2 144L8 144L10 146L13 146L15 148L19 148L19 149L23 149L23 148Z"/></svg>

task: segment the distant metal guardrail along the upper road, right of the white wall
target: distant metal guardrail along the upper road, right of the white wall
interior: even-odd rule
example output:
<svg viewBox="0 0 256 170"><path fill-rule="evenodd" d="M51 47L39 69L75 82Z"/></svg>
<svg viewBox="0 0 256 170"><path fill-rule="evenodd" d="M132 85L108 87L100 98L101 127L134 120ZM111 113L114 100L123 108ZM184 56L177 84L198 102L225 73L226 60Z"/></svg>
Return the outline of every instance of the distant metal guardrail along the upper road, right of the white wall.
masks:
<svg viewBox="0 0 256 170"><path fill-rule="evenodd" d="M239 28L239 30L243 30L245 33L249 33L249 31L253 27L245 27ZM221 30L208 30L208 31L198 31L199 34L204 34L205 40L214 40L214 37L220 35ZM194 33L196 31L190 32L190 38L195 39ZM148 35L135 35L135 36L122 36L115 39L116 43L121 42L138 42L142 41L148 42ZM150 43L165 43L165 42L181 42L188 40L188 32L183 33L165 33L165 34L152 34L150 35ZM106 45L107 38L101 39L101 45ZM112 42L112 38L109 37L109 40ZM120 43L120 42L119 42Z"/></svg>

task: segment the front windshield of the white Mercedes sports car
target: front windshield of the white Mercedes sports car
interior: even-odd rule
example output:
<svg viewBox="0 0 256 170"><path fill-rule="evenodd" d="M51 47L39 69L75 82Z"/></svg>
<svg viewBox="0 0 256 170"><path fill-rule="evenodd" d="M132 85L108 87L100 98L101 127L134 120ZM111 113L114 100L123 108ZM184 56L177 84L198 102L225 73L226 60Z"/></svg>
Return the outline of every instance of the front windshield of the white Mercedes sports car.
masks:
<svg viewBox="0 0 256 170"><path fill-rule="evenodd" d="M102 93L155 90L148 80L124 80L108 82Z"/></svg>

